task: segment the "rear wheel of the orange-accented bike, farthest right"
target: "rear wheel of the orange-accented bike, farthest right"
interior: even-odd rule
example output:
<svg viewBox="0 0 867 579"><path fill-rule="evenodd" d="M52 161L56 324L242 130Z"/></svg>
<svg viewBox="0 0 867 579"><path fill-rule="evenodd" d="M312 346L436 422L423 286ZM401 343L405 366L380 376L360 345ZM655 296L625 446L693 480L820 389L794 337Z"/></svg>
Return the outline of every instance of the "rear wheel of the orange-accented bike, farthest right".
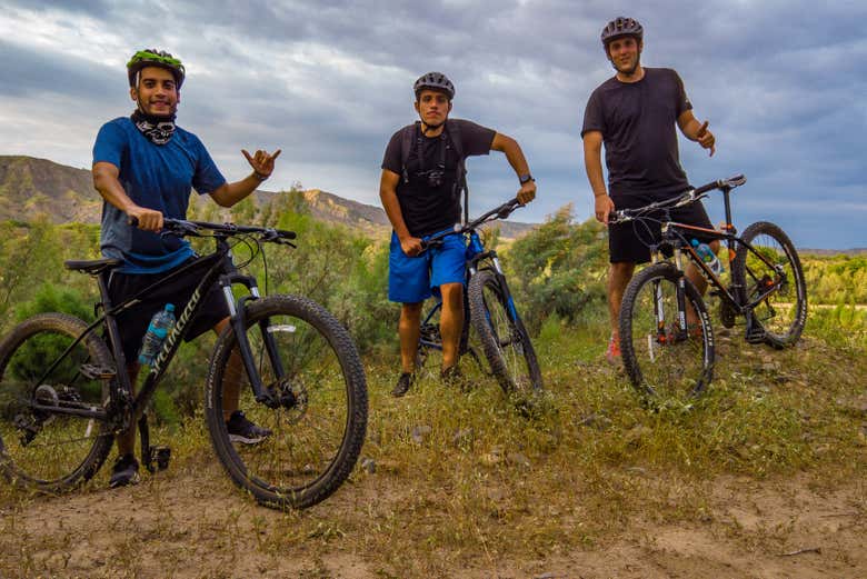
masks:
<svg viewBox="0 0 867 579"><path fill-rule="evenodd" d="M807 322L807 284L798 252L788 236L767 221L749 226L741 239L755 252L738 244L731 279L744 288L747 303L757 301L753 320L764 329L765 341L791 346Z"/></svg>

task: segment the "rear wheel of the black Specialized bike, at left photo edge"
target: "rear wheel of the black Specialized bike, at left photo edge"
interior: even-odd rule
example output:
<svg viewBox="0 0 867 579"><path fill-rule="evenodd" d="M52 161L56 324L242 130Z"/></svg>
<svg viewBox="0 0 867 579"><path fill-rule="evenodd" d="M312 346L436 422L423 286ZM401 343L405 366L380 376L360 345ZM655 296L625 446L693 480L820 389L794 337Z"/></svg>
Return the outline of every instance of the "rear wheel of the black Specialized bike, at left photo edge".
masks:
<svg viewBox="0 0 867 579"><path fill-rule="evenodd" d="M104 422L51 411L99 409L108 399L110 378L81 372L84 365L113 367L104 342L92 332L46 373L87 327L72 316L42 313L0 343L0 471L18 486L68 490L90 479L111 450L113 437Z"/></svg>

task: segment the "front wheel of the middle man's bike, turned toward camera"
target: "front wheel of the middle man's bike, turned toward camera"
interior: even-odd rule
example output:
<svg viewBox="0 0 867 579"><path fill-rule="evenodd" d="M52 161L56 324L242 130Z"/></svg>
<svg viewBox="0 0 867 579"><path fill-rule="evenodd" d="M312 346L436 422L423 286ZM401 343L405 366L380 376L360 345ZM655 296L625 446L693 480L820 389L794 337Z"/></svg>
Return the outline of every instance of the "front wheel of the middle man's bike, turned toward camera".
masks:
<svg viewBox="0 0 867 579"><path fill-rule="evenodd" d="M472 327L504 391L541 390L541 372L530 336L495 272L482 270L475 274L467 293Z"/></svg>

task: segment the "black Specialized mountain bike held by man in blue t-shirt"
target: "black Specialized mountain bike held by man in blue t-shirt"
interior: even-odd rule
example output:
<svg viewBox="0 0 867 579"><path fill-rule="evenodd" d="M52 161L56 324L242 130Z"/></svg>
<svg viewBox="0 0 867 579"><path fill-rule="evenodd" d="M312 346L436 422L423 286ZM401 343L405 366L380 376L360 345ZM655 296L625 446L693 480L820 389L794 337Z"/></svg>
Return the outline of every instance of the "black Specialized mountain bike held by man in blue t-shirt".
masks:
<svg viewBox="0 0 867 579"><path fill-rule="evenodd" d="M261 297L256 279L238 271L231 252L237 243L248 244L253 254L262 242L292 246L295 233L231 223L165 223L166 234L211 237L215 251L117 305L107 289L121 260L67 261L67 268L96 277L102 315L90 325L64 313L34 316L0 342L0 472L21 487L68 490L93 477L114 436L137 422L144 465L165 468L169 455L149 445L146 408L201 297L218 283L231 323L217 340L206 379L205 416L213 449L231 479L266 506L305 508L323 500L349 476L363 443L361 361L333 316L307 298ZM200 274L201 281L133 396L117 316L185 274ZM236 299L233 283L245 286L247 295ZM258 445L233 442L227 431L235 401L227 400L223 386L239 381L238 409L272 432Z"/></svg>

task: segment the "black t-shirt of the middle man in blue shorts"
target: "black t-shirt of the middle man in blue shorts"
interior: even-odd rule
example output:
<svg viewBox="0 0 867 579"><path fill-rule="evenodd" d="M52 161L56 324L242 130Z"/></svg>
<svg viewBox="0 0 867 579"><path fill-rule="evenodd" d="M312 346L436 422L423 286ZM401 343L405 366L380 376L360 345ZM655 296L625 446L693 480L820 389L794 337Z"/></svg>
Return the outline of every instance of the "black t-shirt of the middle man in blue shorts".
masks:
<svg viewBox="0 0 867 579"><path fill-rule="evenodd" d="M400 176L397 186L397 198L400 212L413 237L429 236L442 231L460 221L460 192L457 190L458 154L455 151L449 127L460 124L461 151L464 158L477 154L488 154L496 131L476 124L475 122L449 119L446 130L439 137L421 136L421 129L416 129L416 138L407 159L409 182L403 181L403 163L401 162L402 130L391 136L382 158L382 169L388 169ZM421 160L419 160L418 138L421 137ZM445 158L444 158L445 153ZM445 161L445 162L444 162ZM440 164L442 178L439 186L431 182L429 172L438 170ZM434 179L436 181L436 179Z"/></svg>

